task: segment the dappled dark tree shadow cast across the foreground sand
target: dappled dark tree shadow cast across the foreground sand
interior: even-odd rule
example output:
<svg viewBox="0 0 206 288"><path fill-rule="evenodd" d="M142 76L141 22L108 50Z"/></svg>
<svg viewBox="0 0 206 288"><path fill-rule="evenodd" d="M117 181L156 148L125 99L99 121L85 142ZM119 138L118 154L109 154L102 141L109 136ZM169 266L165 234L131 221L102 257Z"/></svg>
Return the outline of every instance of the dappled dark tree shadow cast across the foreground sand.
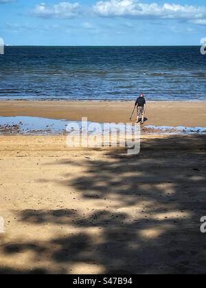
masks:
<svg viewBox="0 0 206 288"><path fill-rule="evenodd" d="M57 165L81 165L87 173L55 184L73 187L82 201L92 200L92 211L26 210L19 217L80 232L38 243L3 243L1 254L29 250L41 261L46 257L53 270L38 267L36 274L69 273L69 267L72 273L73 265L82 263L105 274L204 274L205 144L205 136L148 137L136 156L103 149L97 159L61 160ZM0 265L0 274L14 272Z"/></svg>

